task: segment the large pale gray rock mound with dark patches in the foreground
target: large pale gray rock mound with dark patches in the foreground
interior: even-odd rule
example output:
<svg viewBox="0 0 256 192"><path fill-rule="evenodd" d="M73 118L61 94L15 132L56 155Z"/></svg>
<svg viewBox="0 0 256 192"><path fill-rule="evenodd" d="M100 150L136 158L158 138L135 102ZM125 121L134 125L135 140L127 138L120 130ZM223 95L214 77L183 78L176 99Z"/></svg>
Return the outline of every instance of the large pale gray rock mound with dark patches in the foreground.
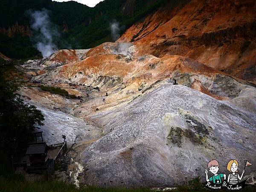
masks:
<svg viewBox="0 0 256 192"><path fill-rule="evenodd" d="M244 160L256 164L256 113L186 86L163 84L93 119L102 122L105 137L81 154L84 184L173 186L204 178L212 159L226 174L230 159L240 171Z"/></svg>

